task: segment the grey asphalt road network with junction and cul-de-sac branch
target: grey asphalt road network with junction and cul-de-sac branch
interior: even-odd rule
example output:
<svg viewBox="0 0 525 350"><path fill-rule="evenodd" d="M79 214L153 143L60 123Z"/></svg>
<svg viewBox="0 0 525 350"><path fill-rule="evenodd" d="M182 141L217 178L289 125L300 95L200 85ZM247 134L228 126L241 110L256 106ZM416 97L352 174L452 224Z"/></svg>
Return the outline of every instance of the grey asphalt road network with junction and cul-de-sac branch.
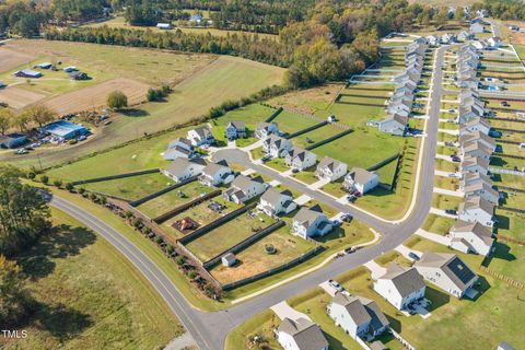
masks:
<svg viewBox="0 0 525 350"><path fill-rule="evenodd" d="M55 196L51 199L50 203L54 207L74 217L80 222L84 223L86 226L89 226L94 232L98 233L109 243L112 243L118 250L120 250L120 253L122 253L158 290L158 292L166 301L172 312L174 312L178 316L183 325L191 334L199 349L223 349L226 335L234 327L242 324L246 319L265 310L268 310L270 306L292 295L295 295L302 291L319 284L320 282L326 281L330 277L361 266L364 262L370 261L371 259L382 255L383 253L394 249L421 226L427 214L430 211L432 201L432 190L434 182L434 154L438 141L440 101L443 92L441 67L443 65L445 49L446 47L442 47L438 49L436 54L436 65L434 67L433 84L431 86L432 100L429 109L430 119L428 120L427 126L428 136L424 138L425 142L420 173L420 187L418 189L419 196L417 206L410 217L399 224L384 222L376 218L370 217L357 209L342 206L339 202L335 201L331 197L313 191L306 186L302 186L301 184L298 184L289 178L276 176L275 172L271 172L266 167L254 167L250 164L250 167L253 167L257 172L260 172L264 175L271 176L272 178L281 182L282 184L298 189L322 202L326 202L338 210L351 213L358 220L361 220L378 230L384 235L384 237L376 245L363 248L354 254L346 255L341 258L335 259L330 264L307 276L299 278L288 284L276 288L266 294L250 299L229 310L208 313L194 308L178 292L178 290L170 281L170 279L162 272L162 270L159 269L145 254L143 254L139 248L137 248L131 242L120 235L117 231L105 224L96 217L86 212L85 210L61 198ZM246 155L243 156L238 152L229 152L221 153L220 156L231 159L245 158ZM242 159L240 160L243 161ZM236 161L240 160L236 159Z"/></svg>

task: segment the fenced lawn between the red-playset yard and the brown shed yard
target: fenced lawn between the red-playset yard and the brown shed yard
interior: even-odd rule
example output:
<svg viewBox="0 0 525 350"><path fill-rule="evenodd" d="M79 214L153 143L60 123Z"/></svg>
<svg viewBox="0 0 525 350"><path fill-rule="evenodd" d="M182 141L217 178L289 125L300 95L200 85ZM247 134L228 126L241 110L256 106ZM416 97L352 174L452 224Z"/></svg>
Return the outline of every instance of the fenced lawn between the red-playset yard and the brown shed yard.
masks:
<svg viewBox="0 0 525 350"><path fill-rule="evenodd" d="M243 213L203 236L189 242L186 247L201 261L207 261L249 237L257 230L267 228L275 222L275 219L262 213L258 213L253 219L247 213Z"/></svg>

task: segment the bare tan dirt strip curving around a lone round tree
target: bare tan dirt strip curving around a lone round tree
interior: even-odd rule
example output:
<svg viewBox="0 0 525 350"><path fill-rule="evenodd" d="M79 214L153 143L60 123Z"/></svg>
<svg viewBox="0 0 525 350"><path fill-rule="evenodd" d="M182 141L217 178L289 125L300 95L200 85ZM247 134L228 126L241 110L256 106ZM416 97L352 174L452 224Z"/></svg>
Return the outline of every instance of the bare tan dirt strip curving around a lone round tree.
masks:
<svg viewBox="0 0 525 350"><path fill-rule="evenodd" d="M120 90L128 96L128 105L132 106L145 100L150 85L131 79L113 79L51 98L46 105L60 115L100 108L106 105L107 95L112 91Z"/></svg>

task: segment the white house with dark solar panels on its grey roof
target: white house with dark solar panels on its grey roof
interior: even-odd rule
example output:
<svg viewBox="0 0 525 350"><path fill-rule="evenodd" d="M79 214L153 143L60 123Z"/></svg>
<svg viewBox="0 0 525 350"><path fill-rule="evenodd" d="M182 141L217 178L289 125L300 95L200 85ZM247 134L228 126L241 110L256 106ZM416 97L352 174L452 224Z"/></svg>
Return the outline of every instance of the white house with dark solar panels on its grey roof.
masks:
<svg viewBox="0 0 525 350"><path fill-rule="evenodd" d="M478 276L455 254L425 252L413 267L427 281L458 299L478 280Z"/></svg>

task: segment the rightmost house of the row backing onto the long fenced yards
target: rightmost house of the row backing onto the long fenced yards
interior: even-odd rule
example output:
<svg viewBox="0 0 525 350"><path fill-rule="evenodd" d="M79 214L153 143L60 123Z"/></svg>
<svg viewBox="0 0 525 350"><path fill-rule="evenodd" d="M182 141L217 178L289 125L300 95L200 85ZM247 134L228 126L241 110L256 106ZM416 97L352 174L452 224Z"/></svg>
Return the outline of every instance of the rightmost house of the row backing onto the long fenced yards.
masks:
<svg viewBox="0 0 525 350"><path fill-rule="evenodd" d="M332 225L323 213L323 209L319 206L314 206L312 208L301 208L293 217L292 229L296 234L306 238L324 236L331 231Z"/></svg>

